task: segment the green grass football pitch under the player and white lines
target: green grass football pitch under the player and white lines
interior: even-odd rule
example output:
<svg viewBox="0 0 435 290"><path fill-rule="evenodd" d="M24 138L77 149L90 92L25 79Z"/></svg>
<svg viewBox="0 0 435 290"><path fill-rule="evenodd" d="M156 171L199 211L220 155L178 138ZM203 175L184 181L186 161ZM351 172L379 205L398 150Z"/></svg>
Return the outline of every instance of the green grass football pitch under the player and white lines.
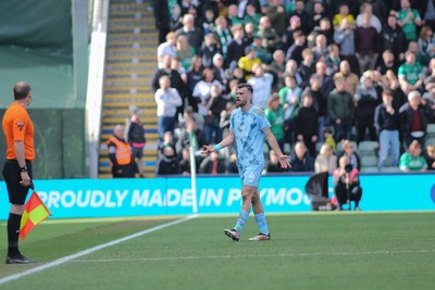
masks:
<svg viewBox="0 0 435 290"><path fill-rule="evenodd" d="M38 263L2 261L0 289L434 289L435 212L266 216L271 241L248 241L252 215L239 242L235 215L199 216L5 280L181 217L46 220L21 242Z"/></svg>

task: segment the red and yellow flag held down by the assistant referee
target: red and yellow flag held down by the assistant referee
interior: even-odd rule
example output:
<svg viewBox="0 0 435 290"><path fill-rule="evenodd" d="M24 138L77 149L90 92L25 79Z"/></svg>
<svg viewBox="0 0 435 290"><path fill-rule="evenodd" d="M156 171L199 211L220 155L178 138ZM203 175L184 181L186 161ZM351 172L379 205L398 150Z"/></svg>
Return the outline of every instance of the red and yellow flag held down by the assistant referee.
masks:
<svg viewBox="0 0 435 290"><path fill-rule="evenodd" d="M46 204L38 193L34 191L24 205L24 213L20 226L20 238L25 241L27 234L50 215L51 213Z"/></svg>

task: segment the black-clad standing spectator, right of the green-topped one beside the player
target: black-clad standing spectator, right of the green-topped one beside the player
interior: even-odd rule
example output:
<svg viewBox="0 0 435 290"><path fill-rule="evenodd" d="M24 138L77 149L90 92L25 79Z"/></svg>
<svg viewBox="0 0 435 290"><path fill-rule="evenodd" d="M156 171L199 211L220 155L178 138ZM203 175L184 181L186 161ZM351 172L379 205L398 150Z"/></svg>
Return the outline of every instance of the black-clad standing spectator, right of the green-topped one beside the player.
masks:
<svg viewBox="0 0 435 290"><path fill-rule="evenodd" d="M301 108L296 112L293 121L295 136L302 141L311 156L315 156L315 143L318 142L319 123L318 112L312 106L313 99L310 91L304 91L301 99Z"/></svg>

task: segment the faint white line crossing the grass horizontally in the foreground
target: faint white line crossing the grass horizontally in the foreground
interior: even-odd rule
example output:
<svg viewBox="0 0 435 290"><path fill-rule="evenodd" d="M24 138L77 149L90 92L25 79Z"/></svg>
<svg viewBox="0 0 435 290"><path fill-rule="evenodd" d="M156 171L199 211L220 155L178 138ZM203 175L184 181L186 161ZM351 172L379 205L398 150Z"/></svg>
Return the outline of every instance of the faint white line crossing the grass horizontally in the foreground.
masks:
<svg viewBox="0 0 435 290"><path fill-rule="evenodd" d="M241 259L241 257L298 257L298 256L322 256L322 255L388 255L388 254L418 254L435 253L435 250L417 251L373 251L373 252L336 252L336 253L282 253L268 255L208 255L208 256L166 256L166 257L141 257L141 259L101 259L101 260L76 260L74 263L105 263L105 262L134 262L134 261L177 261L177 260L219 260L219 259Z"/></svg>

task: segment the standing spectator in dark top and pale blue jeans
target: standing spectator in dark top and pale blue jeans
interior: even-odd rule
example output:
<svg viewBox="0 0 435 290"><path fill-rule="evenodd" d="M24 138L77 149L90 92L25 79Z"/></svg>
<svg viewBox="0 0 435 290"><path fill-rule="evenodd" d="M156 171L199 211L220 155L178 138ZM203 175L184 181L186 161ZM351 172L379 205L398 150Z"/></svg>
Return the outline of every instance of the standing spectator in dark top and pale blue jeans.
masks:
<svg viewBox="0 0 435 290"><path fill-rule="evenodd" d="M383 103L376 106L374 114L374 127L380 140L380 159L377 169L382 172L390 152L388 166L395 167L399 161L399 112L393 108L393 92L385 90L382 93Z"/></svg>

